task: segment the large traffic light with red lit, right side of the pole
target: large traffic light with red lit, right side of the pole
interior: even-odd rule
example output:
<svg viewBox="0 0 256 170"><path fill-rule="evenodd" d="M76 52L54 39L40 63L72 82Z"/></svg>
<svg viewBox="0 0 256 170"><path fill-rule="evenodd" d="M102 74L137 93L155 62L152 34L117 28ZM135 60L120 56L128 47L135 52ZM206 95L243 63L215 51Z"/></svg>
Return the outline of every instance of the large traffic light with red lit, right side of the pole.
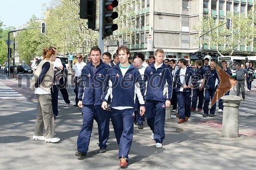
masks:
<svg viewBox="0 0 256 170"><path fill-rule="evenodd" d="M113 12L113 9L118 6L117 0L105 0L103 6L103 35L110 36L113 35L113 31L118 29L116 23L113 23L113 19L118 17L117 12Z"/></svg>

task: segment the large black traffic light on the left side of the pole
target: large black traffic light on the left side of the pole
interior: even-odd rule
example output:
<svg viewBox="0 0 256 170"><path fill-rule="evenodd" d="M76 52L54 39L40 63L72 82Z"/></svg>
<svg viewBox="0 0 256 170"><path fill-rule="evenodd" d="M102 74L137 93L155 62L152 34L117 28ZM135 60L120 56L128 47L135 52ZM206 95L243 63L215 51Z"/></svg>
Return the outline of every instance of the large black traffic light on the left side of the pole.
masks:
<svg viewBox="0 0 256 170"><path fill-rule="evenodd" d="M96 25L96 0L80 0L79 16L82 19L88 19L88 28L95 29Z"/></svg>

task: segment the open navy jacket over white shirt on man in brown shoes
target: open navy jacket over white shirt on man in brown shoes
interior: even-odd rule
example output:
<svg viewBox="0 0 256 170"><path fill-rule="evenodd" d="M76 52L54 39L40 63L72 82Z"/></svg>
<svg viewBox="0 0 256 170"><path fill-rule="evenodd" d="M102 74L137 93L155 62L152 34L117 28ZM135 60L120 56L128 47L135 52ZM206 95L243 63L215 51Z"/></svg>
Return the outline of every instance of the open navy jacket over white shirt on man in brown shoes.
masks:
<svg viewBox="0 0 256 170"><path fill-rule="evenodd" d="M191 83L193 84L193 86L196 86L198 83L198 77L200 76L196 76L195 75L195 71L193 70L193 68L187 67L186 69L186 77L185 77L185 81L186 81L186 85L189 85L189 80L191 79ZM180 69L178 69L176 71L176 74L174 76L174 88L176 88L176 91L180 91L180 88L182 86L182 83L180 82ZM191 88L184 88L183 92L187 92L187 91L191 91Z"/></svg>

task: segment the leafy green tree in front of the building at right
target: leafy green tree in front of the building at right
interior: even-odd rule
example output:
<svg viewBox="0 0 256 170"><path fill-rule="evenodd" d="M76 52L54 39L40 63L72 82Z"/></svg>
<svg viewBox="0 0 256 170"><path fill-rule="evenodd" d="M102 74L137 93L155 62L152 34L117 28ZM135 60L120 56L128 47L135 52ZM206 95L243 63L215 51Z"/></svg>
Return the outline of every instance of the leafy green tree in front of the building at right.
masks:
<svg viewBox="0 0 256 170"><path fill-rule="evenodd" d="M207 44L211 49L216 49L221 56L223 54L232 56L234 51L240 50L240 45L251 45L254 37L255 28L251 13L248 15L228 13L227 18L232 20L230 30L225 25L214 29L226 22L226 19L217 20L210 11L207 16L200 19L200 25L196 28L199 35L214 29L202 37L201 43Z"/></svg>

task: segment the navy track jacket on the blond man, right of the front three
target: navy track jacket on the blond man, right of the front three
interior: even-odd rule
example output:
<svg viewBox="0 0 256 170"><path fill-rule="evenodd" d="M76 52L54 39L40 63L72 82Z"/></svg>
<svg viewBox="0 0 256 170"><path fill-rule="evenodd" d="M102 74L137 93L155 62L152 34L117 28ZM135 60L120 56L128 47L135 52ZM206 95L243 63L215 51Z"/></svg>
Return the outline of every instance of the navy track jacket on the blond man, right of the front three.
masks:
<svg viewBox="0 0 256 170"><path fill-rule="evenodd" d="M173 88L172 72L165 64L157 69L154 64L155 62L145 69L144 77L147 82L145 99L161 102L170 101Z"/></svg>

